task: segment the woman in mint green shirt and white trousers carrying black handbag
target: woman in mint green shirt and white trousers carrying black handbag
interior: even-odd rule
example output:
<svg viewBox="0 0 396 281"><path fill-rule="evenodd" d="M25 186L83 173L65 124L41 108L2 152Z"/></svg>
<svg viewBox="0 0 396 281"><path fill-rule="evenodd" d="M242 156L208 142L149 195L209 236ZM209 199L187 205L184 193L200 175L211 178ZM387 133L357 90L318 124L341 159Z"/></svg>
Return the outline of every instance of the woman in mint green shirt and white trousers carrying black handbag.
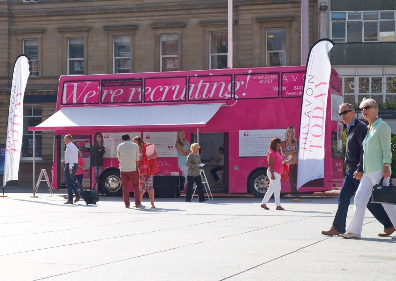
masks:
<svg viewBox="0 0 396 281"><path fill-rule="evenodd" d="M363 140L363 176L356 172L353 175L360 180L354 200L355 211L347 226L347 233L341 237L359 239L362 233L364 213L370 199L373 186L384 178L387 186L391 176L391 128L378 118L378 105L374 99L363 99L360 110L364 119L368 121L368 132ZM396 205L382 204L392 224L396 226ZM396 239L396 235L392 237Z"/></svg>

